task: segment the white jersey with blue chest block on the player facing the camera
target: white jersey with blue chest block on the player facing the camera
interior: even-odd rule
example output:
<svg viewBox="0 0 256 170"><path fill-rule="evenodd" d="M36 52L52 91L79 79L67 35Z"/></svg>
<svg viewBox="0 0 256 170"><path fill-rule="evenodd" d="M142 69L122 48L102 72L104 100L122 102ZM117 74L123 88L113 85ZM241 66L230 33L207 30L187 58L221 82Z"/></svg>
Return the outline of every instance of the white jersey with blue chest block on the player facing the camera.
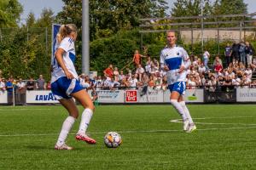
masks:
<svg viewBox="0 0 256 170"><path fill-rule="evenodd" d="M186 81L186 71L178 73L181 66L185 66L185 63L189 60L189 55L186 50L181 47L166 47L162 49L160 54L160 65L167 65L169 71L166 72L167 83L171 85L175 82ZM186 68L186 66L185 66Z"/></svg>

